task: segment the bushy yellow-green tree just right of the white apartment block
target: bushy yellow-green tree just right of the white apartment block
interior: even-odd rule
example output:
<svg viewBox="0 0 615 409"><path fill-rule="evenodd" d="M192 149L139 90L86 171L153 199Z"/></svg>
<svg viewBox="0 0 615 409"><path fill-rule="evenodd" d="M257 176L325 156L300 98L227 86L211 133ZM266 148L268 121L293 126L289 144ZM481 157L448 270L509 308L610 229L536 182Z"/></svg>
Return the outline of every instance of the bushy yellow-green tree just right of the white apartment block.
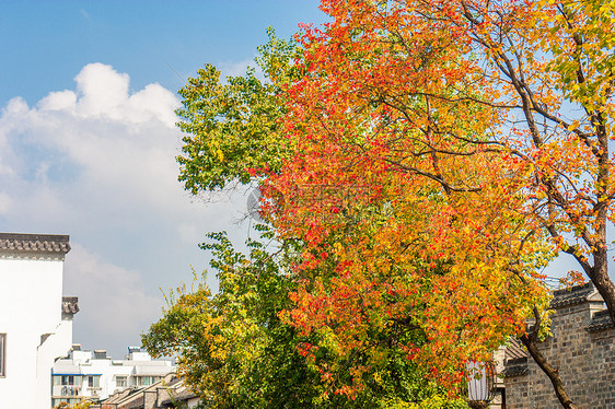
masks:
<svg viewBox="0 0 615 409"><path fill-rule="evenodd" d="M210 234L219 292L205 283L167 297L163 318L142 338L153 355L177 354L179 372L213 408L311 407L315 374L295 349L294 331L277 312L290 280L251 242L248 260L224 234ZM312 381L312 382L310 382Z"/></svg>

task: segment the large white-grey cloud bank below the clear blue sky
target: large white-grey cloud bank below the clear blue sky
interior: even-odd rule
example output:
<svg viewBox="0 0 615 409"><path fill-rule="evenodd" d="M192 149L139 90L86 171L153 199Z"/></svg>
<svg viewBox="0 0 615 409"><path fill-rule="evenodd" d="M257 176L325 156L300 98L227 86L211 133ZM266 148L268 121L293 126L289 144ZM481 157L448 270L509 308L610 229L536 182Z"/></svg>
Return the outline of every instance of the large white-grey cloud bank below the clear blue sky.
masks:
<svg viewBox="0 0 615 409"><path fill-rule="evenodd" d="M74 80L74 90L32 107L15 97L0 110L0 222L4 231L70 234L65 281L84 307L76 341L125 346L124 330L139 334L160 316L160 287L190 280L190 265L206 267L197 243L228 229L236 206L193 202L177 182L174 93L159 84L131 91L128 74L102 63ZM105 317L119 311L109 329Z"/></svg>

